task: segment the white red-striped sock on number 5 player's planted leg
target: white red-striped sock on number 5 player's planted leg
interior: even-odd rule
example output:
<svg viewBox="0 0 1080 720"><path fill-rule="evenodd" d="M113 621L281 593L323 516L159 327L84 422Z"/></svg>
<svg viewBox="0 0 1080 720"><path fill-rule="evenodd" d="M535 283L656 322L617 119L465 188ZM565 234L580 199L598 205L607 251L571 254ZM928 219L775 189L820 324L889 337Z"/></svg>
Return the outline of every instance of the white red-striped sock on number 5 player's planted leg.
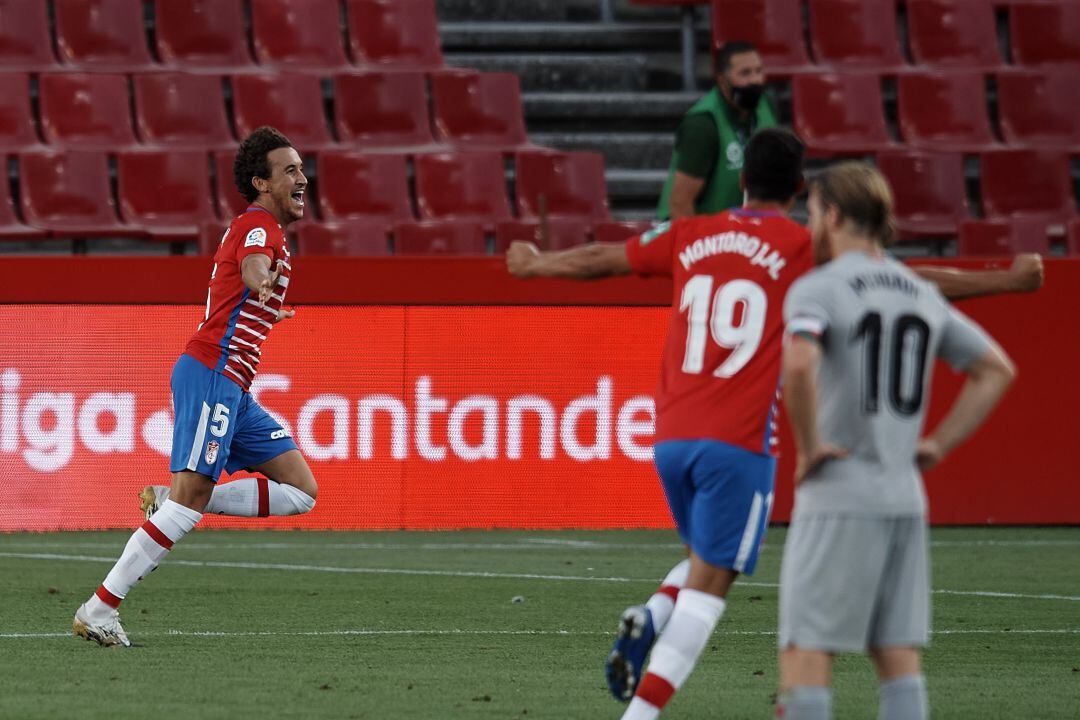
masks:
<svg viewBox="0 0 1080 720"><path fill-rule="evenodd" d="M113 613L132 586L150 574L173 544L191 532L201 519L202 513L166 500L131 536L120 559L86 601L91 616L107 617Z"/></svg>

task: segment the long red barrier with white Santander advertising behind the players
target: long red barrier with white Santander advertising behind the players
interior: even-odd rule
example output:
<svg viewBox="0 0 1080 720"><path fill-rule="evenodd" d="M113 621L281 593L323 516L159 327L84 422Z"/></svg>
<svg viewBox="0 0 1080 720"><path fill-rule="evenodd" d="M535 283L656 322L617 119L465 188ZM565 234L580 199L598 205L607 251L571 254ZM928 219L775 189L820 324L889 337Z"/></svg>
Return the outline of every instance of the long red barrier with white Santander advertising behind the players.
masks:
<svg viewBox="0 0 1080 720"><path fill-rule="evenodd" d="M207 271L191 258L19 260L0 264L0 300L195 303ZM611 307L663 303L666 284L518 283L487 259L297 266L297 302L380 307L300 307L268 343L259 400L289 423L322 488L312 514L278 525L670 526L648 460L667 310ZM427 302L530 307L400 304L410 286ZM1062 260L1037 295L962 304L1021 377L988 425L928 476L934 522L1080 522L1078 300L1080 262ZM0 530L136 521L135 492L167 479L168 372L200 312L0 304ZM932 419L957 388L939 367ZM786 427L781 447L792 447ZM778 520L789 477L787 452Z"/></svg>

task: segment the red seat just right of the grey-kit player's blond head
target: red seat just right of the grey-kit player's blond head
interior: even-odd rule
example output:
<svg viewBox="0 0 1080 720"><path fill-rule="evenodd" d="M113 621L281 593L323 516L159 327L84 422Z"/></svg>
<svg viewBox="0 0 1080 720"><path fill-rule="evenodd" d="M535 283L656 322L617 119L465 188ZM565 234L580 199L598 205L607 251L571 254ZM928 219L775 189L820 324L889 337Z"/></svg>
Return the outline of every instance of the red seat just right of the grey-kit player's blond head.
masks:
<svg viewBox="0 0 1080 720"><path fill-rule="evenodd" d="M892 186L902 237L955 235L968 219L961 155L894 150L876 161Z"/></svg>

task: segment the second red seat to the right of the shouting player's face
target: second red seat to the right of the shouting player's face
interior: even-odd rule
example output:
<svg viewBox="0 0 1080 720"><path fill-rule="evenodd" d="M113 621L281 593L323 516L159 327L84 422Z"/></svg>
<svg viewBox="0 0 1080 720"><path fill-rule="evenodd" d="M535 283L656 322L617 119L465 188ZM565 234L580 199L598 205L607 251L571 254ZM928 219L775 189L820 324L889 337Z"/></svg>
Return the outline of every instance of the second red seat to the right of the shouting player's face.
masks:
<svg viewBox="0 0 1080 720"><path fill-rule="evenodd" d="M502 158L497 153L417 155L416 199L420 217L470 219L495 229L510 219Z"/></svg>

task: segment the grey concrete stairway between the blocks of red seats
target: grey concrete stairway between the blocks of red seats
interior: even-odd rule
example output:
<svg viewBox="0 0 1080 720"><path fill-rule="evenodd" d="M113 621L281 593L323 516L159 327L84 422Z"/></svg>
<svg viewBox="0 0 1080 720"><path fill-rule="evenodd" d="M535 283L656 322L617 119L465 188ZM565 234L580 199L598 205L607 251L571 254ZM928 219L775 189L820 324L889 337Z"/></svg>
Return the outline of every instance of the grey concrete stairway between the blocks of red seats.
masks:
<svg viewBox="0 0 1080 720"><path fill-rule="evenodd" d="M710 17L697 10L699 92L683 92L677 9L612 0L438 0L446 64L521 78L529 139L603 153L612 215L654 217L679 118L710 83ZM477 17L486 18L477 21Z"/></svg>

